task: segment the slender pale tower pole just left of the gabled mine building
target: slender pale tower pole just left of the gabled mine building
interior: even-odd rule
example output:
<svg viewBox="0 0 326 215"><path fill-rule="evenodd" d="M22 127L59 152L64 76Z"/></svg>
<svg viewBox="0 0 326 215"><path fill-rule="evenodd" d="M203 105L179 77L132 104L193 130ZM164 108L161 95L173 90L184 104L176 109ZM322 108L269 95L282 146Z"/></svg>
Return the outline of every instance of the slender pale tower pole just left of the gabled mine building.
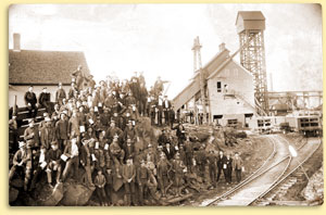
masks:
<svg viewBox="0 0 326 215"><path fill-rule="evenodd" d="M201 105L202 105L202 112L203 112L203 124L206 124L206 99L205 99L205 91L204 91L204 77L203 77L203 71L202 71L202 64L201 64L201 54L200 49L201 45L199 42L199 37L197 36L193 39L193 73L199 72L199 81L200 81L200 99L201 99ZM196 110L196 98L195 98L195 110Z"/></svg>

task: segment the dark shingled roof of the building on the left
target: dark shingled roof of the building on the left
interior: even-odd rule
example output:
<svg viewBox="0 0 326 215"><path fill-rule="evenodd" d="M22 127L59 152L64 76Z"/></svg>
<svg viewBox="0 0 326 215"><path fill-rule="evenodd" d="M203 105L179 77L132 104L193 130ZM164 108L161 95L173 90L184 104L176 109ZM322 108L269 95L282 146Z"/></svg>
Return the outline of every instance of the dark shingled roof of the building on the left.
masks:
<svg viewBox="0 0 326 215"><path fill-rule="evenodd" d="M9 50L9 84L70 84L71 74L77 69L78 65L83 66L84 75L88 76L89 68L83 52Z"/></svg>

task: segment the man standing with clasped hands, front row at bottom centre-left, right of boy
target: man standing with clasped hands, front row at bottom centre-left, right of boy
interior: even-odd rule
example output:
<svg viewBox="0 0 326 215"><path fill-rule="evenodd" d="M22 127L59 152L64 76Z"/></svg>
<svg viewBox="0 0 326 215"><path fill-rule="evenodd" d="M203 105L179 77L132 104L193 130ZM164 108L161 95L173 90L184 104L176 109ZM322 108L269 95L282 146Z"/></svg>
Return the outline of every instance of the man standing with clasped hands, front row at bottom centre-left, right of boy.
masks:
<svg viewBox="0 0 326 215"><path fill-rule="evenodd" d="M136 167L133 164L133 159L128 159L127 164L123 166L122 177L125 187L126 205L130 206L131 203L135 205L136 204L136 200L135 200Z"/></svg>

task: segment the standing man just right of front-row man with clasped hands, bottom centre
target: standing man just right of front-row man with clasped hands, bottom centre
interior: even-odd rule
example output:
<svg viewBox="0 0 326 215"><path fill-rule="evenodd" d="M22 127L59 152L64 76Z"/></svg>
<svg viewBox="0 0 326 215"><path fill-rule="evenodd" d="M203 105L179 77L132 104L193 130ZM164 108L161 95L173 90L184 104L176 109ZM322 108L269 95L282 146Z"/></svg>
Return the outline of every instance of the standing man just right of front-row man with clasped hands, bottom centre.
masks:
<svg viewBox="0 0 326 215"><path fill-rule="evenodd" d="M147 193L147 184L150 180L150 170L148 169L145 160L140 161L140 166L137 168L137 182L139 188L139 204L143 205L143 199Z"/></svg>

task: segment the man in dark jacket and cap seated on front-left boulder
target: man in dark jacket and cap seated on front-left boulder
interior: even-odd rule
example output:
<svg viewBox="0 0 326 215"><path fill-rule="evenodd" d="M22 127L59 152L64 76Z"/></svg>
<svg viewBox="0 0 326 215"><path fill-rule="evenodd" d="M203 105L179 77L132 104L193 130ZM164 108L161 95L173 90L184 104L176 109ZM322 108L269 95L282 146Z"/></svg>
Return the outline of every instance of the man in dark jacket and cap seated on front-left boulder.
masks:
<svg viewBox="0 0 326 215"><path fill-rule="evenodd" d="M57 141L51 142L51 149L47 153L47 176L48 176L48 184L52 187L52 172L57 172L55 181L57 184L60 182L61 176L61 164L60 164L60 156L62 152L58 147Z"/></svg>

